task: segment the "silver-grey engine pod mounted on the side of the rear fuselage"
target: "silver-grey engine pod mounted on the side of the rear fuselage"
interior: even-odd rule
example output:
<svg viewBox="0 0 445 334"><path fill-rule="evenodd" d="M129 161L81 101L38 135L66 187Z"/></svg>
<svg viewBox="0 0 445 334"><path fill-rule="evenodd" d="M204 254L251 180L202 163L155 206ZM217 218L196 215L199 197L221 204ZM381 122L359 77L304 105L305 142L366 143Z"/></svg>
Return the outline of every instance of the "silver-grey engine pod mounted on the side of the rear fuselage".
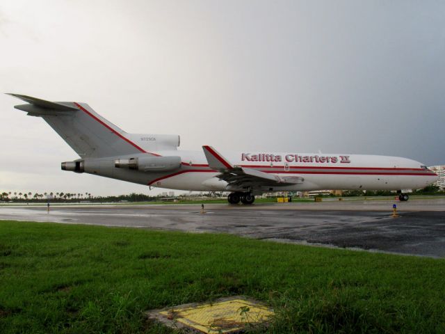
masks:
<svg viewBox="0 0 445 334"><path fill-rule="evenodd" d="M181 166L181 157L136 157L116 159L115 168L141 170L143 172L167 172Z"/></svg>

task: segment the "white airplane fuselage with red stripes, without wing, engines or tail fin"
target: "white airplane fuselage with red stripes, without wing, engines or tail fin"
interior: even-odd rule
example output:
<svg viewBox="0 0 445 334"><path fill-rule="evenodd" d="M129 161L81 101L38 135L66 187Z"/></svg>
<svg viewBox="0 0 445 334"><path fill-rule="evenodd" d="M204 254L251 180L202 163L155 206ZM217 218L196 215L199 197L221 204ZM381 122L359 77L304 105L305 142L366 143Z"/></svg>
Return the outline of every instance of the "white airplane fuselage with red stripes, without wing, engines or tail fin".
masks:
<svg viewBox="0 0 445 334"><path fill-rule="evenodd" d="M227 188L218 180L218 170L209 167L202 151L159 151L161 157L179 156L179 168L168 172L145 172L115 168L115 158L85 159L84 172L154 187L192 191L243 191ZM131 154L140 157L144 154ZM437 175L418 161L401 157L358 154L295 152L223 152L235 166L264 173L300 176L302 183L263 186L261 191L312 191L321 189L400 190L419 189L437 180ZM130 157L130 156L128 156ZM245 190L245 189L244 189Z"/></svg>

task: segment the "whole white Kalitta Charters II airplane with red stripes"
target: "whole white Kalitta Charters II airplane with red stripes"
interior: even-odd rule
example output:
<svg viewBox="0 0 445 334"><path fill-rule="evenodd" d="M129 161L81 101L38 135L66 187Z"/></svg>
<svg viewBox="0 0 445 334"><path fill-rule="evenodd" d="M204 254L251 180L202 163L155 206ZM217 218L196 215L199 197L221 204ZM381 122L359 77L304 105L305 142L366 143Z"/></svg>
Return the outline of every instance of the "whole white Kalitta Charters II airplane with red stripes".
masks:
<svg viewBox="0 0 445 334"><path fill-rule="evenodd" d="M182 151L179 136L128 134L88 104L49 102L10 94L15 106L42 117L79 154L63 170L90 173L154 187L186 191L230 191L229 203L252 204L268 191L321 189L419 189L437 180L423 164L401 157L297 152L224 152L211 146Z"/></svg>

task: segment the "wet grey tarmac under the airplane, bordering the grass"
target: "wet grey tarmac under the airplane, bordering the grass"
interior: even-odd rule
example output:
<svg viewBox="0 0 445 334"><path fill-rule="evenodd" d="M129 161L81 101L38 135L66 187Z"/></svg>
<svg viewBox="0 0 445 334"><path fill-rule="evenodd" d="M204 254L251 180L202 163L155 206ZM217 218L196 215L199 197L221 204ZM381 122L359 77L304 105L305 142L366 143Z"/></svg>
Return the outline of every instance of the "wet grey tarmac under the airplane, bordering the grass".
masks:
<svg viewBox="0 0 445 334"><path fill-rule="evenodd" d="M0 207L0 219L223 232L254 239L445 257L445 199L252 206L108 205Z"/></svg>

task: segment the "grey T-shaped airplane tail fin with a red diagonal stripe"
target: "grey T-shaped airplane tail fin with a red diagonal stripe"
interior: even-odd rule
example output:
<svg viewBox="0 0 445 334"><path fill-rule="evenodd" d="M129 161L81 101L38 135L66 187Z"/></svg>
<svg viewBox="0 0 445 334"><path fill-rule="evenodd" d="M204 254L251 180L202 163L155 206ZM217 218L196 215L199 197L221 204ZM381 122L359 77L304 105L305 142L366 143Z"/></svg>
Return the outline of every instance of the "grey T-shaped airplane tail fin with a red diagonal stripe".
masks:
<svg viewBox="0 0 445 334"><path fill-rule="evenodd" d="M15 109L43 118L80 157L113 157L145 152L126 132L95 113L88 104L50 102L35 97L8 94L28 104Z"/></svg>

